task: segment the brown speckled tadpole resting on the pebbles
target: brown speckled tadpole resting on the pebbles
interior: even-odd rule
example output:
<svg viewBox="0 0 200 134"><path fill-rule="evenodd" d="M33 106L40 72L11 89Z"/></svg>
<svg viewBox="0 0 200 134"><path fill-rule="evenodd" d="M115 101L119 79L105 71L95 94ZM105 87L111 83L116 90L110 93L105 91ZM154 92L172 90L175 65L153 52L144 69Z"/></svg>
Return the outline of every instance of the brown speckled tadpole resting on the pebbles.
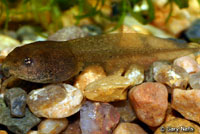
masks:
<svg viewBox="0 0 200 134"><path fill-rule="evenodd" d="M2 70L6 76L56 83L73 77L81 67L91 64L101 65L107 73L112 73L131 64L147 68L154 61L173 60L199 49L197 44L178 44L138 33L107 34L17 47L6 57Z"/></svg>

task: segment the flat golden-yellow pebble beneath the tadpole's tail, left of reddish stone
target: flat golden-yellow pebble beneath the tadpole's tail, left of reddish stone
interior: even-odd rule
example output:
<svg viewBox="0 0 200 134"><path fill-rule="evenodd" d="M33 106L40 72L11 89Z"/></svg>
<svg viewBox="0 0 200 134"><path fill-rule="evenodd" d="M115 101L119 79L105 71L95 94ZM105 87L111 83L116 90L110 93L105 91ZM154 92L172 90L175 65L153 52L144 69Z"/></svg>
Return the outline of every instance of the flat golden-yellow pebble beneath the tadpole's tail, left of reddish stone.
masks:
<svg viewBox="0 0 200 134"><path fill-rule="evenodd" d="M84 90L87 99L100 102L126 100L130 82L122 76L108 76L90 83Z"/></svg>

